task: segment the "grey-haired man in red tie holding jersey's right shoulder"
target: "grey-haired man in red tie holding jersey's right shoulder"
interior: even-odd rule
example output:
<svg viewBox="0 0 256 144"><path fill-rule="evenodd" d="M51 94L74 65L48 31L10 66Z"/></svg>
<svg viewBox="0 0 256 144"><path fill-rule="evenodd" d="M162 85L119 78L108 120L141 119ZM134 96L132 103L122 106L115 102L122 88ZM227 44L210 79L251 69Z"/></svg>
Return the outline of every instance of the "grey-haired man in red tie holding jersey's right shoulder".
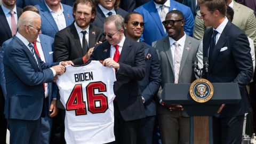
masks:
<svg viewBox="0 0 256 144"><path fill-rule="evenodd" d="M90 60L103 60L103 65L116 70L114 83L113 143L136 143L139 119L145 117L138 81L145 76L145 51L142 44L124 36L124 19L110 15L104 22L107 41L95 46Z"/></svg>

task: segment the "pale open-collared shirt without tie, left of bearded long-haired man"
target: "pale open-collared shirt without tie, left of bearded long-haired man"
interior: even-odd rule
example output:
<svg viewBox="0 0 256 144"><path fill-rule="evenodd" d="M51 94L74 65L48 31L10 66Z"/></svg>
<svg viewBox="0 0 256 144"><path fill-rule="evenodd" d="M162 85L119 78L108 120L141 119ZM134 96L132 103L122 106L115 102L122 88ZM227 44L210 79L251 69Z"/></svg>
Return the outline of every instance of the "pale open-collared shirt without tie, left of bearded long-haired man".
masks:
<svg viewBox="0 0 256 144"><path fill-rule="evenodd" d="M52 14L52 17L56 23L56 25L58 26L58 29L61 30L63 28L66 28L66 20L65 20L65 15L63 13L63 7L62 4L60 3L60 12L54 12L53 10L50 9L50 7L45 3L45 5L47 6L47 8L49 9L49 11Z"/></svg>

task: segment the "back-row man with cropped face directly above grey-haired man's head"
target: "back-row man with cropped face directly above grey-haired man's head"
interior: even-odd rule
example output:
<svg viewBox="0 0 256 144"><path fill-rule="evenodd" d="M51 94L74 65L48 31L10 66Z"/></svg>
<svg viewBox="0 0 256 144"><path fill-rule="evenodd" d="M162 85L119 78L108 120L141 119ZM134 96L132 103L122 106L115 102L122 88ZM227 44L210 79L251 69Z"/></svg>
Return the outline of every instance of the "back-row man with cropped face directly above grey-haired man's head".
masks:
<svg viewBox="0 0 256 144"><path fill-rule="evenodd" d="M103 28L104 21L109 15L119 14L123 18L128 12L124 11L119 7L120 0L115 1L105 1L105 0L95 0L97 5L97 15L95 21L92 25Z"/></svg>

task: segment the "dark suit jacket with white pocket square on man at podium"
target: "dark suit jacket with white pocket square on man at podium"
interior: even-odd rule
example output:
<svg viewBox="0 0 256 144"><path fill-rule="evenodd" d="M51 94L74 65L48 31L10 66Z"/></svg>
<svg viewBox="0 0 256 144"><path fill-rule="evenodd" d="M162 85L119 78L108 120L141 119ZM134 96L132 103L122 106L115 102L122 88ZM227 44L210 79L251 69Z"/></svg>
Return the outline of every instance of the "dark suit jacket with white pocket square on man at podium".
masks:
<svg viewBox="0 0 256 144"><path fill-rule="evenodd" d="M212 33L212 28L204 33L204 57L208 57ZM233 23L228 22L209 59L207 79L212 83L238 83L242 100L235 105L226 105L220 117L239 116L249 112L250 103L245 86L253 76L250 50L247 36Z"/></svg>

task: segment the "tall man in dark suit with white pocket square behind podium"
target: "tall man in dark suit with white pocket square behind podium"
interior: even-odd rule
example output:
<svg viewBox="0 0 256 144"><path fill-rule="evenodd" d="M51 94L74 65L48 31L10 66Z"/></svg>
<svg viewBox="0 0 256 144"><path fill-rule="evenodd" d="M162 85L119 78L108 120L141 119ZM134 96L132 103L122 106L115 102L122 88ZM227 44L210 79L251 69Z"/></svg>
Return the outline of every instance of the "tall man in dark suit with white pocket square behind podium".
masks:
<svg viewBox="0 0 256 144"><path fill-rule="evenodd" d="M221 105L213 116L213 143L241 143L244 114L250 110L246 91L253 76L247 36L225 17L225 0L199 2L201 18L207 29L203 37L203 57L209 58L207 79L212 83L238 83L242 100Z"/></svg>

